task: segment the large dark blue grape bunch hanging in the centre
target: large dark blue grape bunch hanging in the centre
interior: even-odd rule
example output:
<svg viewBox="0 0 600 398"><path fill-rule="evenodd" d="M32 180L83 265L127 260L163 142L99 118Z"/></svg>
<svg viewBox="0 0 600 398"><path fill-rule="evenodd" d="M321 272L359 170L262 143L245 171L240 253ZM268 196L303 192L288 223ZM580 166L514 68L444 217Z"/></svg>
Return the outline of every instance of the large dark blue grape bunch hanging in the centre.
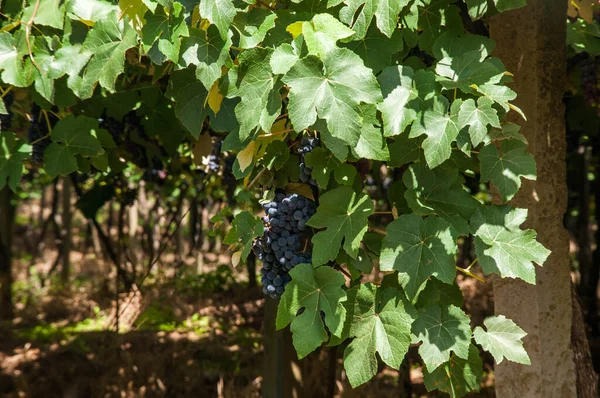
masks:
<svg viewBox="0 0 600 398"><path fill-rule="evenodd" d="M298 264L310 263L311 254L303 252L307 242L306 222L316 213L314 202L298 194L278 193L263 205L265 233L254 242L253 251L262 261L263 292L279 298L292 280L289 271Z"/></svg>

